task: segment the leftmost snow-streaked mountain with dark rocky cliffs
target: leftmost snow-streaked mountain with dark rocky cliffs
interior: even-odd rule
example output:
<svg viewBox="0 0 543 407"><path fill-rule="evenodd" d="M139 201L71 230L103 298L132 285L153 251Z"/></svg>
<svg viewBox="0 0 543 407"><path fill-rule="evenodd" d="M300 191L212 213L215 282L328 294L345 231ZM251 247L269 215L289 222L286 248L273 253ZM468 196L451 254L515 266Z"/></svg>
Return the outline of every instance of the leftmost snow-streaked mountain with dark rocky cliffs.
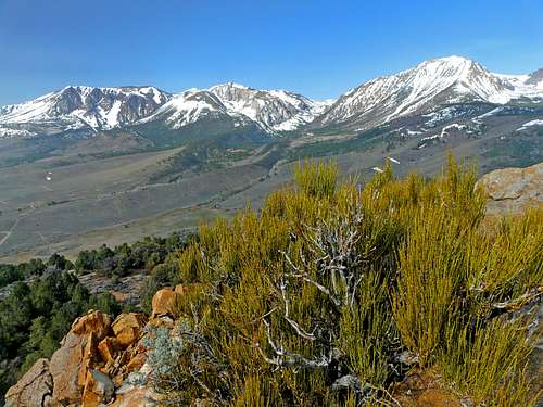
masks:
<svg viewBox="0 0 543 407"><path fill-rule="evenodd" d="M0 107L0 136L17 131L28 136L33 126L112 129L149 116L169 99L154 87L68 86L26 103Z"/></svg>

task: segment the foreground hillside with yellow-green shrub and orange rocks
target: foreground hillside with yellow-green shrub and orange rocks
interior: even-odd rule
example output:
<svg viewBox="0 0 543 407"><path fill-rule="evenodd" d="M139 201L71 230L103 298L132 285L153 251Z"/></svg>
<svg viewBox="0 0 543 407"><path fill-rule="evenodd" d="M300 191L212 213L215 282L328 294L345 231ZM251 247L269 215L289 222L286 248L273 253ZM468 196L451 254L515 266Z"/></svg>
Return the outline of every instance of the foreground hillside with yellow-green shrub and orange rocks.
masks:
<svg viewBox="0 0 543 407"><path fill-rule="evenodd" d="M540 167L476 186L451 157L431 178L389 163L362 186L300 164L258 213L162 257L148 314L75 320L8 405L534 406L541 196L484 218L493 180L532 191Z"/></svg>

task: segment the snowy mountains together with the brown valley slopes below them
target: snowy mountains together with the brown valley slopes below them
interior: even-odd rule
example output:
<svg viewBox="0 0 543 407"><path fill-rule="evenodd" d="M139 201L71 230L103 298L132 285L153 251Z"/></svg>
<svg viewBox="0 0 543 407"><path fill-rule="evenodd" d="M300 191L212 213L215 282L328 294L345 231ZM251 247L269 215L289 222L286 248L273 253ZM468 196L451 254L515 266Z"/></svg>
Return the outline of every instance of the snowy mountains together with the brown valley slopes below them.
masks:
<svg viewBox="0 0 543 407"><path fill-rule="evenodd" d="M0 107L0 259L258 207L306 157L364 180L387 157L394 174L435 174L450 150L480 174L542 162L543 71L501 75L449 56L329 101L232 82L180 93L68 86Z"/></svg>

